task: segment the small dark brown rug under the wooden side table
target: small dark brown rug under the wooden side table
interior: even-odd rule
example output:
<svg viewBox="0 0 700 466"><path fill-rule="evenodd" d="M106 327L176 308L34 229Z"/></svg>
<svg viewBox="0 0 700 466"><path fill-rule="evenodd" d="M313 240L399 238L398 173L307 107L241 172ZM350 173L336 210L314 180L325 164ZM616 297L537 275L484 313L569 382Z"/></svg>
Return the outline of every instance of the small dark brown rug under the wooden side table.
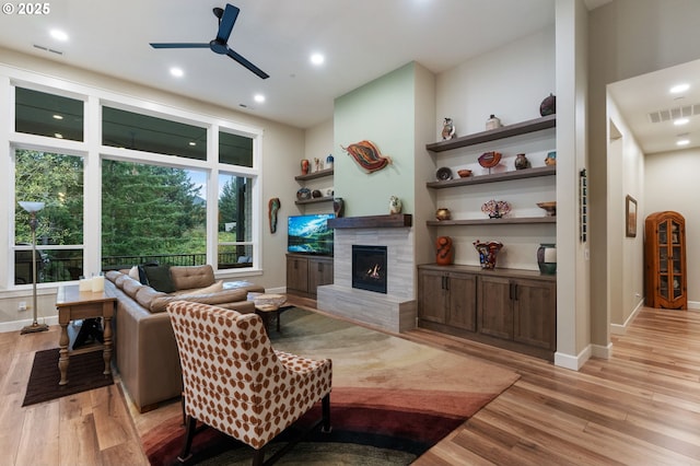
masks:
<svg viewBox="0 0 700 466"><path fill-rule="evenodd" d="M37 351L32 373L26 385L22 406L49 401L93 388L112 385L112 375L104 375L105 361L102 351L92 351L70 357L68 384L58 385L61 373L58 369L58 348Z"/></svg>

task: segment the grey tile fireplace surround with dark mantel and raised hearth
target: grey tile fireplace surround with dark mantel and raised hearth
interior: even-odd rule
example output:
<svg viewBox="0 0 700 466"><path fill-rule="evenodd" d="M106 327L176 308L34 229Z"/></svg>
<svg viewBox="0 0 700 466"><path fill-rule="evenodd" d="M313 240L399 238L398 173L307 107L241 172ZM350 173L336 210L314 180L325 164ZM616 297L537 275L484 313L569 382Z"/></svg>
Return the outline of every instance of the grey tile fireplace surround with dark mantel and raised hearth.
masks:
<svg viewBox="0 0 700 466"><path fill-rule="evenodd" d="M400 333L416 327L411 215L340 218L335 229L334 284L318 287L317 306L329 314ZM386 246L386 294L352 288L352 245Z"/></svg>

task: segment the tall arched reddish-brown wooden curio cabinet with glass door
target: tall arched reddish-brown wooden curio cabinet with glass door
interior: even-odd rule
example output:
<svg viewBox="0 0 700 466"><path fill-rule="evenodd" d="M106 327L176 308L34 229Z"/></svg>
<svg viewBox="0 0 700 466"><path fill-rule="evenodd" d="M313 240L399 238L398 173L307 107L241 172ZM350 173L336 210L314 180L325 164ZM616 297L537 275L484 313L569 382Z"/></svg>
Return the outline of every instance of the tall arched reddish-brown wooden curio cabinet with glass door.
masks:
<svg viewBox="0 0 700 466"><path fill-rule="evenodd" d="M646 305L688 308L686 220L678 212L652 213L644 223Z"/></svg>

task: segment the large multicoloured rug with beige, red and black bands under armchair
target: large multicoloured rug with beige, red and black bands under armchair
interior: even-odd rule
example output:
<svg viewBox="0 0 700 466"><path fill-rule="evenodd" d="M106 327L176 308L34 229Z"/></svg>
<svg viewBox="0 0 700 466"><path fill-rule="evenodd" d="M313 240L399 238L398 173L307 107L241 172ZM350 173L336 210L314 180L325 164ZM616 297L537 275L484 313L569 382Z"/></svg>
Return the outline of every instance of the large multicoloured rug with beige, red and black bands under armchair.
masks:
<svg viewBox="0 0 700 466"><path fill-rule="evenodd" d="M346 321L294 307L270 331L276 349L332 360L332 432L298 444L279 464L410 464L518 375ZM305 424L315 412L302 418ZM152 465L173 465L182 446L182 413L141 434ZM281 447L282 435L269 446ZM195 464L249 464L252 450L213 429L195 436Z"/></svg>

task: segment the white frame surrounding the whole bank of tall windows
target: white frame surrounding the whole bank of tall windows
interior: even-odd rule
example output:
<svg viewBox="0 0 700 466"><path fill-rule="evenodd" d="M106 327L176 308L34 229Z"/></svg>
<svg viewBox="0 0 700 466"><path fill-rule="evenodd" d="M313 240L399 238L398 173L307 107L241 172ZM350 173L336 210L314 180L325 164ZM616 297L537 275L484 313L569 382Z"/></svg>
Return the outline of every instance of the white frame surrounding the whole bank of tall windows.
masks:
<svg viewBox="0 0 700 466"><path fill-rule="evenodd" d="M45 136L20 133L14 129L15 86L37 90L84 102L83 141L57 139ZM102 266L102 160L113 159L137 163L161 164L178 168L191 168L207 173L207 263L214 267L218 278L235 278L240 276L261 275L261 241L264 215L261 210L261 150L264 130L242 124L230 118L221 118L194 110L156 103L141 97L129 96L90 85L77 84L56 78L48 78L31 71L16 70L0 65L0 107L8 112L0 116L0 170L8 174L8 186L4 188L5 206L0 207L0 214L5 217L7 229L0 232L0 242L7 247L0 251L0 260L7 267L0 269L0 290L22 289L27 286L14 284L14 150L43 150L83 158L83 272L85 276L100 272ZM7 106L4 105L7 104ZM176 155L131 151L102 144L102 106L135 112L158 118L200 126L207 129L207 158L205 161L186 159ZM253 139L253 166L236 166L219 162L219 131L235 133ZM252 267L222 269L217 268L218 252L218 178L219 172L246 176L252 184L252 241L254 261ZM2 191L2 189L0 189ZM56 287L59 282L40 283L44 287ZM65 282L60 282L65 283Z"/></svg>

